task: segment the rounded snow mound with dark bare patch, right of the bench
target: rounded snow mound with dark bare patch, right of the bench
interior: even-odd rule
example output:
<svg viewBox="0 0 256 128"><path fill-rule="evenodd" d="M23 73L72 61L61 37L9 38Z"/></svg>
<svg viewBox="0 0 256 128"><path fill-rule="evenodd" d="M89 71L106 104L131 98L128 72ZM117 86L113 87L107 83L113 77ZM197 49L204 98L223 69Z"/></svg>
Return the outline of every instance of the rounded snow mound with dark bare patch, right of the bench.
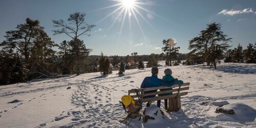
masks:
<svg viewBox="0 0 256 128"><path fill-rule="evenodd" d="M216 109L211 109L208 113L208 118L216 121L248 122L254 121L256 117L256 111L244 103L230 103L220 108L226 111L233 110L234 114L215 113Z"/></svg>

